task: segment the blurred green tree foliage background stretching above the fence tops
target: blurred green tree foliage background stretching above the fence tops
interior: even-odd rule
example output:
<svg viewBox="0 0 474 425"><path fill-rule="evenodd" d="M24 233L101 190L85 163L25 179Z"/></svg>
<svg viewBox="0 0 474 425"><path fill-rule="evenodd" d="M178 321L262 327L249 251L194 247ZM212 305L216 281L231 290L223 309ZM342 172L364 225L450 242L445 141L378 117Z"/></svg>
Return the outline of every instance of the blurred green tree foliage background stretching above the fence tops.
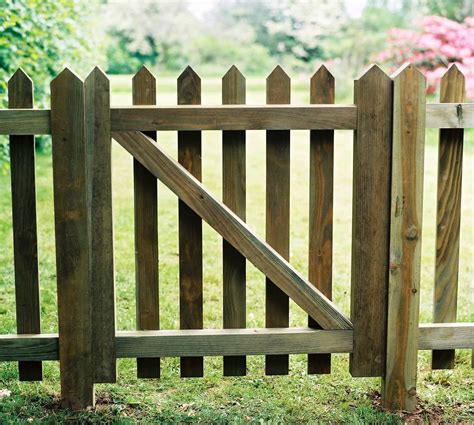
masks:
<svg viewBox="0 0 474 425"><path fill-rule="evenodd" d="M351 0L212 0L198 16L199 1L0 0L0 106L20 66L34 79L37 106L47 103L49 82L65 65L82 75L94 64L112 74L146 64L176 75L190 63L204 76L221 76L236 64L246 75L263 76L276 63L304 74L324 61L338 81L350 84L380 52L388 67L399 65L400 42L404 52L416 49L426 32L423 17L462 26L474 15L472 0L359 0L356 12ZM430 71L472 64L474 46L463 46L451 57L437 56L434 67L426 64L430 58L421 62ZM6 143L0 141L2 156Z"/></svg>

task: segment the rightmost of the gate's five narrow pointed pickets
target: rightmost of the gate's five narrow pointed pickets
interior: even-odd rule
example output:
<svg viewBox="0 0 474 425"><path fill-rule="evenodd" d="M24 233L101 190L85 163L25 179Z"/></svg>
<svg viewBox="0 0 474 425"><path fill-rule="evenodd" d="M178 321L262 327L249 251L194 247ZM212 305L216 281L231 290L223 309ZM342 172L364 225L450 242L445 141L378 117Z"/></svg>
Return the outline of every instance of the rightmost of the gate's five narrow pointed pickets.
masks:
<svg viewBox="0 0 474 425"><path fill-rule="evenodd" d="M334 103L334 77L323 65L311 78L310 102ZM334 131L310 131L308 278L332 297ZM321 327L308 317L308 326ZM331 354L308 354L308 373L330 373Z"/></svg>

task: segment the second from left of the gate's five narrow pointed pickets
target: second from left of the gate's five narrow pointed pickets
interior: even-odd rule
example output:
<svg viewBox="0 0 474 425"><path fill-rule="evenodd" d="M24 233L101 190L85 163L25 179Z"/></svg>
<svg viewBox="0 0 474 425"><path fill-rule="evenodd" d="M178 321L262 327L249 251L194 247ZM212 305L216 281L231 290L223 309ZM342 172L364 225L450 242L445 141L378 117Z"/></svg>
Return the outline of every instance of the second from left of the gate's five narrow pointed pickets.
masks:
<svg viewBox="0 0 474 425"><path fill-rule="evenodd" d="M201 103L201 79L191 67L178 78L178 104ZM201 132L178 132L178 161L199 181L201 172ZM181 329L202 329L202 220L179 201L179 312ZM182 357L181 376L204 373L202 357Z"/></svg>

